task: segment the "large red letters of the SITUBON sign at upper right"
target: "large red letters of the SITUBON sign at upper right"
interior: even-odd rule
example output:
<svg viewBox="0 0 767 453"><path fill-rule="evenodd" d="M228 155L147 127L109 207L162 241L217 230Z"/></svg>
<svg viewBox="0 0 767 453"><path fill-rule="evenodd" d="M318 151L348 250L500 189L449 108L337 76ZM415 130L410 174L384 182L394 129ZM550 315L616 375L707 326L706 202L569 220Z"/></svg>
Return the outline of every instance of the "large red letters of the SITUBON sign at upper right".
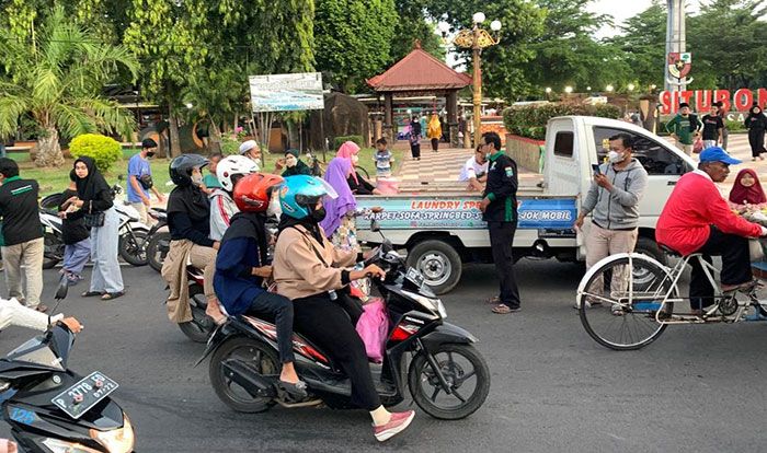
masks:
<svg viewBox="0 0 767 453"><path fill-rule="evenodd" d="M734 92L730 90L664 91L659 95L659 102L661 115L675 114L683 102L688 103L695 112L699 113L708 113L714 102L721 102L726 112L747 112L754 103L763 107L767 105L767 89L740 89Z"/></svg>

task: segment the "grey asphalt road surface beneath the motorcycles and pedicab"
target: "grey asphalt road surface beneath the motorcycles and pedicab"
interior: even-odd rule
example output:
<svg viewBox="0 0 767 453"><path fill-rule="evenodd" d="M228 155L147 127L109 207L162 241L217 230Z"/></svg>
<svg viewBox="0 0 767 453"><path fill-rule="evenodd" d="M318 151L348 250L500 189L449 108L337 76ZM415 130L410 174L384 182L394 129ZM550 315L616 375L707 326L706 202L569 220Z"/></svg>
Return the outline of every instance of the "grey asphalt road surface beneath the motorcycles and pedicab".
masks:
<svg viewBox="0 0 767 453"><path fill-rule="evenodd" d="M517 269L519 313L489 311L483 301L496 283L488 266L467 268L444 298L449 321L480 338L492 373L484 406L451 422L420 413L405 434L382 445L359 410L227 408L209 386L207 362L193 368L203 345L168 322L163 284L149 267L123 268L122 299L80 298L80 283L59 311L85 326L70 368L99 370L121 384L113 396L136 427L138 452L762 450L767 325L672 326L643 350L615 352L587 336L572 309L582 268L523 260ZM56 278L45 271L45 295ZM0 352L32 335L2 332ZM0 435L8 434L0 423Z"/></svg>

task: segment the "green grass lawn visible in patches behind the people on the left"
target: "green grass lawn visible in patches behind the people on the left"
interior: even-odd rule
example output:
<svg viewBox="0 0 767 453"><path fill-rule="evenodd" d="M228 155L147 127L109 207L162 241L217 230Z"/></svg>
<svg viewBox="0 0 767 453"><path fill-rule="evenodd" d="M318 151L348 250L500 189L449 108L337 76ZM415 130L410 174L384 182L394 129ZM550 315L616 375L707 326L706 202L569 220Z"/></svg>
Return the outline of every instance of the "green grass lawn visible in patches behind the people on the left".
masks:
<svg viewBox="0 0 767 453"><path fill-rule="evenodd" d="M137 150L133 149L126 149L123 151L124 159L122 161L117 161L112 166L112 170L106 175L104 175L106 177L107 183L116 184L118 182L117 176L121 174L125 175L127 173L128 159L136 152ZM373 160L374 152L375 149L373 148L363 148L363 150L359 152L358 164L367 171L367 173L370 175L370 179L373 183L375 183L376 178L376 164ZM391 150L391 153L394 159L394 162L392 162L391 165L391 170L392 173L396 174L397 170L402 163L402 156L404 154L404 151ZM329 152L328 161L330 161L330 159L332 159L333 155L334 153ZM72 159L67 159L67 162L60 167L38 169L34 165L32 161L30 161L28 153L9 153L8 156L19 163L22 177L37 181L37 183L39 184L39 193L43 197L49 194L62 191L69 184L69 172L72 169L72 164L75 163L75 160ZM267 154L265 156L264 170L274 171L274 163L282 155L278 154ZM320 159L322 159L321 155ZM173 189L172 183L168 185L168 183L170 182L170 176L168 174L169 163L170 159L152 159L150 162L154 185L162 193L170 193ZM123 187L125 187L125 182L123 183Z"/></svg>

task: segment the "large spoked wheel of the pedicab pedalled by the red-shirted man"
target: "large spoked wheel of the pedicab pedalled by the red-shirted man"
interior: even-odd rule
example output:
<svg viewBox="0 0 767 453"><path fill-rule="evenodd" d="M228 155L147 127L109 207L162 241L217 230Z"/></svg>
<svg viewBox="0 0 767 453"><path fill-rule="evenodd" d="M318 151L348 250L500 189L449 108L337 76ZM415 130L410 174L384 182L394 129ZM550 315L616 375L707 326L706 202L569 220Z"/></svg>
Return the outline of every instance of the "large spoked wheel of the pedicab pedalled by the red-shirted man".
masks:
<svg viewBox="0 0 767 453"><path fill-rule="evenodd" d="M656 321L656 314L672 283L665 269L643 255L607 260L591 275L581 294L581 324L602 346L641 349L666 329L666 324ZM676 292L674 288L668 298L676 298ZM673 302L666 303L663 311L673 313Z"/></svg>

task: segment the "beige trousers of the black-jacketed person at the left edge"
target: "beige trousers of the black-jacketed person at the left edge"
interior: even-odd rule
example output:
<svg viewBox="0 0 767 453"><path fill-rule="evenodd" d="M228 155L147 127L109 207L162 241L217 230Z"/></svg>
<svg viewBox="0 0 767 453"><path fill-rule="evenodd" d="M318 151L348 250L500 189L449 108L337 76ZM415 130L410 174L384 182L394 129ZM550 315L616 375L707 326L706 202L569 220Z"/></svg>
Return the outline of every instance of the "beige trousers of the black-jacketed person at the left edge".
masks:
<svg viewBox="0 0 767 453"><path fill-rule="evenodd" d="M2 247L8 295L16 298L20 302L24 301L24 304L32 309L39 304L39 294L43 292L44 251L43 237Z"/></svg>

